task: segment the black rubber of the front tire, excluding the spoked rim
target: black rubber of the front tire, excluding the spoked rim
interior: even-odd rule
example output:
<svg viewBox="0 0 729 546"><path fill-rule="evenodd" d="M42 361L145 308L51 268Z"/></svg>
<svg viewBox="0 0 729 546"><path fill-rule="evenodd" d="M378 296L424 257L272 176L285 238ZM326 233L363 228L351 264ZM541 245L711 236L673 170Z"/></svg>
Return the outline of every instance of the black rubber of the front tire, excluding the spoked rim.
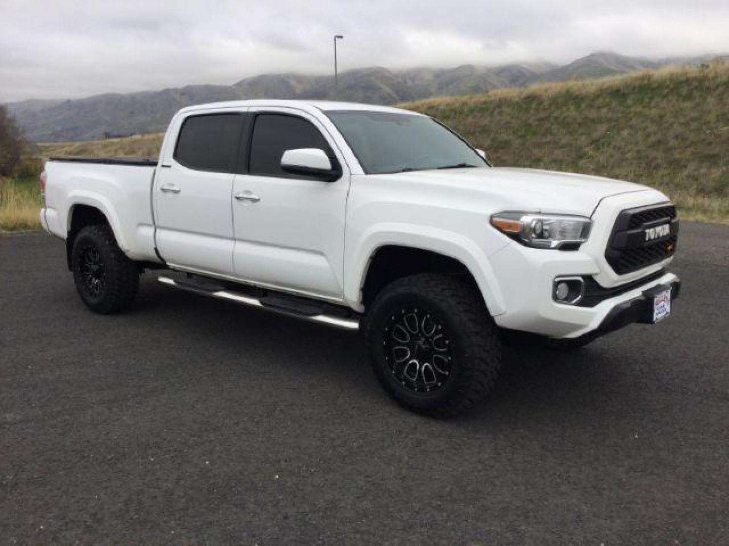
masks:
<svg viewBox="0 0 729 546"><path fill-rule="evenodd" d="M459 365L463 375L453 394L432 408L413 406L407 395L391 385L383 376L383 368L378 363L375 350L379 350L379 340L374 339L375 317L386 311L383 305L394 295L415 293L427 295L438 306L445 309L459 328L459 336L464 344L465 357ZM373 362L375 375L389 394L407 408L437 418L448 418L469 410L488 397L494 389L501 365L501 341L496 325L488 314L480 293L469 282L454 275L422 273L392 282L375 298L362 320L362 334L367 352Z"/></svg>

